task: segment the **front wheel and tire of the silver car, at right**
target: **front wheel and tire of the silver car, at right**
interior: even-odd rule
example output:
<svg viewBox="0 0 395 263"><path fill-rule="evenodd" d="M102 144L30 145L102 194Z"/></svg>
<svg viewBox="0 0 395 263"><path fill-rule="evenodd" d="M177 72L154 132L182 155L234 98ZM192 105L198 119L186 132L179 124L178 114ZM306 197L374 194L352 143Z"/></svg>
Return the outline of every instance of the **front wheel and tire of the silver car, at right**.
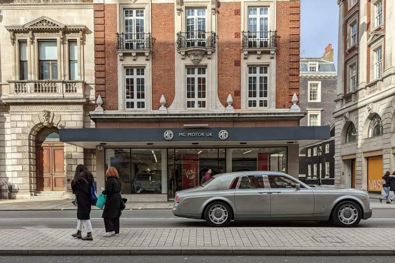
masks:
<svg viewBox="0 0 395 263"><path fill-rule="evenodd" d="M338 203L332 212L332 222L337 227L353 228L362 219L362 209L356 202L343 201Z"/></svg>

